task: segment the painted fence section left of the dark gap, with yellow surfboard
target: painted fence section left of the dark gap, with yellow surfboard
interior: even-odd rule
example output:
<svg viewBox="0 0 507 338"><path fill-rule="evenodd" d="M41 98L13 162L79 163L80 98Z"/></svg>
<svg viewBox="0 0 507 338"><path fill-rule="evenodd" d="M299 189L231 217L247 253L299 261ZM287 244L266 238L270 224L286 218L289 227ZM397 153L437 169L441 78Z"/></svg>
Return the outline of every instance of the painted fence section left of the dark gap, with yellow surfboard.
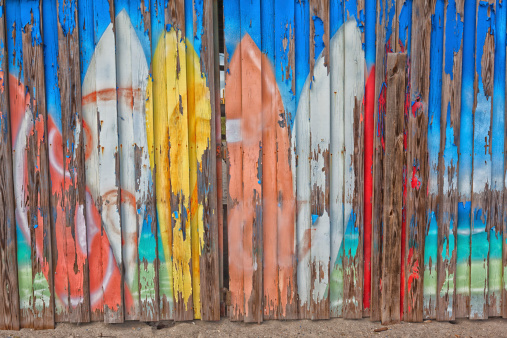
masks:
<svg viewBox="0 0 507 338"><path fill-rule="evenodd" d="M20 314L4 325L217 319L212 2L0 10Z"/></svg>

